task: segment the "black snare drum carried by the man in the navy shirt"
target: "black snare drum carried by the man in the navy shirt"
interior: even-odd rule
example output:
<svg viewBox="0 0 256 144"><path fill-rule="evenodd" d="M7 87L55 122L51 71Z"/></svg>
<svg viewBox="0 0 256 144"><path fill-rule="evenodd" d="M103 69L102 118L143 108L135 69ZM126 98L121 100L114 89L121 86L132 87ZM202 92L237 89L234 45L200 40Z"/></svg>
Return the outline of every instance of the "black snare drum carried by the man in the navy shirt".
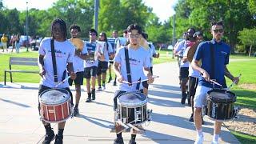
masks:
<svg viewBox="0 0 256 144"><path fill-rule="evenodd" d="M226 90L210 90L206 98L206 115L214 120L225 121L234 118L234 93Z"/></svg>

